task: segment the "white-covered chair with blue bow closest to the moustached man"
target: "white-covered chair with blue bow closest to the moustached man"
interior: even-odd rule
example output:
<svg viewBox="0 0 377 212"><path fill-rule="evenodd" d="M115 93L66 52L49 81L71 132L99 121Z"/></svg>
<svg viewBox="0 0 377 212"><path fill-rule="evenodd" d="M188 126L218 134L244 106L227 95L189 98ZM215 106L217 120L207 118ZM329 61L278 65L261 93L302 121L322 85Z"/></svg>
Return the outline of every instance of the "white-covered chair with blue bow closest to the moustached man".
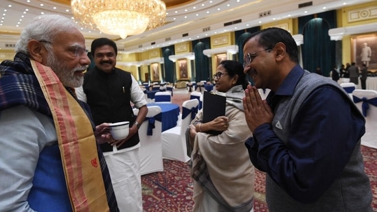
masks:
<svg viewBox="0 0 377 212"><path fill-rule="evenodd" d="M134 110L137 115L139 110ZM161 114L159 106L148 106L146 119L139 128L139 160L141 175L152 172L163 172L162 148L161 148ZM161 116L160 116L161 117ZM155 128L152 128L155 126ZM148 135L148 128L150 133Z"/></svg>

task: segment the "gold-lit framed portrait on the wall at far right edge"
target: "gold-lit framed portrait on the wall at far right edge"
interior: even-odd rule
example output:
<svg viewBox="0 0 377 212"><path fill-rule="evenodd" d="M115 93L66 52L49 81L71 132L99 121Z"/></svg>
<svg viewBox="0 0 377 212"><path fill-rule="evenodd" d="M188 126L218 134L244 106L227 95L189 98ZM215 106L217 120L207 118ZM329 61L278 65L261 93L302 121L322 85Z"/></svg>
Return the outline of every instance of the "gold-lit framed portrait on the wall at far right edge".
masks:
<svg viewBox="0 0 377 212"><path fill-rule="evenodd" d="M361 67L367 64L368 70L377 70L377 33L351 37L351 62Z"/></svg>

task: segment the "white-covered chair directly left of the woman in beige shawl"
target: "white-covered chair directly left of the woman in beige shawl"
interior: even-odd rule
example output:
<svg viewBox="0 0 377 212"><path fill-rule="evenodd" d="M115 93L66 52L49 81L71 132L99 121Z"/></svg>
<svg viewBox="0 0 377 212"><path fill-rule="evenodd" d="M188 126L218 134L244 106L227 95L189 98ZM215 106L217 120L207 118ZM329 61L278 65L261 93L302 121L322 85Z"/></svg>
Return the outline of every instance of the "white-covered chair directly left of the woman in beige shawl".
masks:
<svg viewBox="0 0 377 212"><path fill-rule="evenodd" d="M183 102L181 126L176 126L162 132L161 142L163 158L182 162L190 160L187 156L185 132L198 112L198 104L198 99L190 99Z"/></svg>

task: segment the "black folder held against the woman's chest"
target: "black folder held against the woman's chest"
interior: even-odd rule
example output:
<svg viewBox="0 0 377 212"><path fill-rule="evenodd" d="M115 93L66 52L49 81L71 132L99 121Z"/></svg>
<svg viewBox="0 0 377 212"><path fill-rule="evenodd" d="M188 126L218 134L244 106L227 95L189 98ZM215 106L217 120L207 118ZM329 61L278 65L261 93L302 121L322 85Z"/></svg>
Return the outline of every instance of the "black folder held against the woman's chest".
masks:
<svg viewBox="0 0 377 212"><path fill-rule="evenodd" d="M225 115L227 98L205 91L203 93L203 123L214 120L216 117ZM221 134L222 131L209 130L209 134Z"/></svg>

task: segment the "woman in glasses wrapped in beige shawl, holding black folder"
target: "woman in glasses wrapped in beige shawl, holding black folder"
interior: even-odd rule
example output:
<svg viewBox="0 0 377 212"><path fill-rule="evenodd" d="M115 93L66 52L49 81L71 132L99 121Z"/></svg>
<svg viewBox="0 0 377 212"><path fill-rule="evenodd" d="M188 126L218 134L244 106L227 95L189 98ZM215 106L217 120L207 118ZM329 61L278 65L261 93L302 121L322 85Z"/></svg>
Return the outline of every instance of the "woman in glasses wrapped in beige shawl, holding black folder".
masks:
<svg viewBox="0 0 377 212"><path fill-rule="evenodd" d="M214 82L218 95L227 97L225 116L203 123L203 110L199 110L190 125L193 211L253 211L254 167L244 148L251 132L242 106L249 82L242 64L234 60L220 62ZM209 130L222 133L210 134Z"/></svg>

